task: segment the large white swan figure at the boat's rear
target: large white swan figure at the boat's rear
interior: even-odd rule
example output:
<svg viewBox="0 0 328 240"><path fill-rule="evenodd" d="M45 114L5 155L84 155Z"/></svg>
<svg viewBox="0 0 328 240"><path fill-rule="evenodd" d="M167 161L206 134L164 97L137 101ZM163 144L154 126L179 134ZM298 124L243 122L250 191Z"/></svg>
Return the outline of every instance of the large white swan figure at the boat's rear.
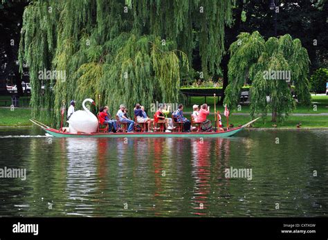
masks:
<svg viewBox="0 0 328 240"><path fill-rule="evenodd" d="M91 98L86 98L82 102L84 111L75 111L71 118L67 121L69 122L70 133L95 133L97 131L98 119L93 113L91 113L91 111L89 111L89 109L85 107L86 102L91 102L95 105L95 102Z"/></svg>

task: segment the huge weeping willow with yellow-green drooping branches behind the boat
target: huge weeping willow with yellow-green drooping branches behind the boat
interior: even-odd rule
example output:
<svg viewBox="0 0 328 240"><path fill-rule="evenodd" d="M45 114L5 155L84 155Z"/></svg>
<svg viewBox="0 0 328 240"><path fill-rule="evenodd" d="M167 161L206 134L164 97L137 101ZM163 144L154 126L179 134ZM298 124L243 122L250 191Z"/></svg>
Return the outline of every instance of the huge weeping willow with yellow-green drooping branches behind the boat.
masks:
<svg viewBox="0 0 328 240"><path fill-rule="evenodd" d="M24 11L19 62L29 67L33 116L46 108L57 123L62 102L75 99L79 108L84 98L98 95L111 109L177 102L196 47L201 71L219 73L231 8L230 0L31 2ZM40 80L44 69L64 71L66 79Z"/></svg>

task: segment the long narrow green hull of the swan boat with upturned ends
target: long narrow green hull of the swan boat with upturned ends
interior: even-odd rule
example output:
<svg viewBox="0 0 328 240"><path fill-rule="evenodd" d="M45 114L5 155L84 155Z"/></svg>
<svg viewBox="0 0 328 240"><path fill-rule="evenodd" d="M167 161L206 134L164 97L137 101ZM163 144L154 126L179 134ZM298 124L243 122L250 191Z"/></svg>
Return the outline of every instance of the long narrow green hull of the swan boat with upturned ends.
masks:
<svg viewBox="0 0 328 240"><path fill-rule="evenodd" d="M37 120L30 120L34 124L37 124L39 127L42 127L44 131L51 134L54 137L59 138L224 138L233 136L239 131L242 131L249 124L252 124L257 119L252 120L242 127L237 127L234 129L229 129L228 131L221 132L155 132L155 133L147 133L147 132L136 132L136 133L66 133L57 129L52 129L51 127L46 126L42 122L38 122Z"/></svg>

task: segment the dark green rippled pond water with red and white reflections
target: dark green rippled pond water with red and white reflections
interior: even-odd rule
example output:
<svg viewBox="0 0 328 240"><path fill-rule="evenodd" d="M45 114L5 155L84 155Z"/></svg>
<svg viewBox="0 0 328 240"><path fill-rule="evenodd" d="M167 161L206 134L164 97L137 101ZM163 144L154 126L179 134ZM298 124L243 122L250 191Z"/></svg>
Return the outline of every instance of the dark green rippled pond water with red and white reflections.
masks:
<svg viewBox="0 0 328 240"><path fill-rule="evenodd" d="M0 178L0 216L328 214L327 130L126 141L33 127L0 129L0 146L0 169L26 169Z"/></svg>

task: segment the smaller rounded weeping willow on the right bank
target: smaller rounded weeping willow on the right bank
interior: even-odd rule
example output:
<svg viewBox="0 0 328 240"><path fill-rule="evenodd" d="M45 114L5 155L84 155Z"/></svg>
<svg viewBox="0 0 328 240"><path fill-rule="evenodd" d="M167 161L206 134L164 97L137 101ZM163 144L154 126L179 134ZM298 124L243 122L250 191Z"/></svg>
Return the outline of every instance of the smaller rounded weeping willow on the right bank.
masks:
<svg viewBox="0 0 328 240"><path fill-rule="evenodd" d="M255 31L241 33L231 44L228 64L228 81L225 103L234 108L239 102L240 91L246 79L250 88L250 114L272 113L272 122L282 121L295 108L291 94L293 83L296 99L300 104L311 103L309 93L309 56L300 39L288 34L267 41Z"/></svg>

